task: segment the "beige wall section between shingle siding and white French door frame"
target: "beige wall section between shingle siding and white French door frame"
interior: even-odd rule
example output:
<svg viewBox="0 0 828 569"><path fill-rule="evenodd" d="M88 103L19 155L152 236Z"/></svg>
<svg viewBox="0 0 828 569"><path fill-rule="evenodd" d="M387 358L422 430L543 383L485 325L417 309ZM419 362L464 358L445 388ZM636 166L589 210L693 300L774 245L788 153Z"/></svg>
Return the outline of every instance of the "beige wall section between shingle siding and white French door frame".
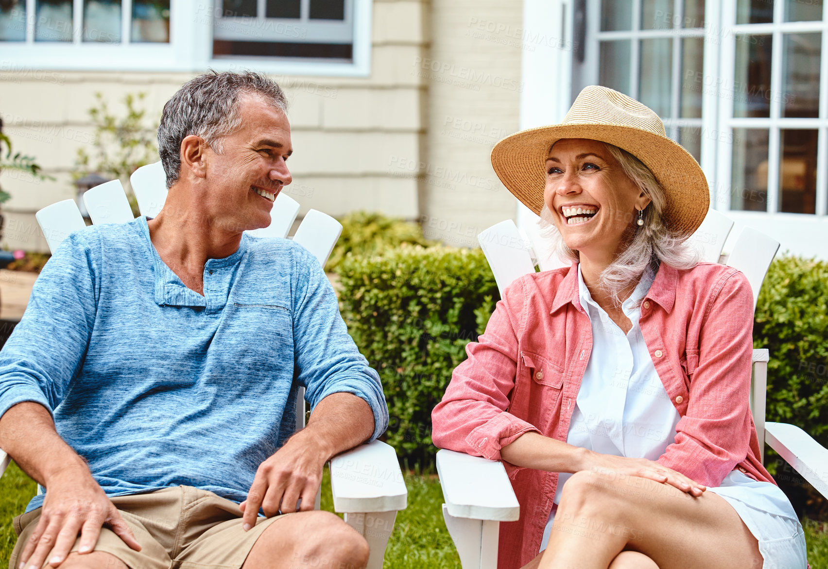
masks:
<svg viewBox="0 0 828 569"><path fill-rule="evenodd" d="M428 85L423 228L427 237L476 246L479 232L516 212L489 154L517 131L522 2L434 2L430 22L428 59L406 62Z"/></svg>

